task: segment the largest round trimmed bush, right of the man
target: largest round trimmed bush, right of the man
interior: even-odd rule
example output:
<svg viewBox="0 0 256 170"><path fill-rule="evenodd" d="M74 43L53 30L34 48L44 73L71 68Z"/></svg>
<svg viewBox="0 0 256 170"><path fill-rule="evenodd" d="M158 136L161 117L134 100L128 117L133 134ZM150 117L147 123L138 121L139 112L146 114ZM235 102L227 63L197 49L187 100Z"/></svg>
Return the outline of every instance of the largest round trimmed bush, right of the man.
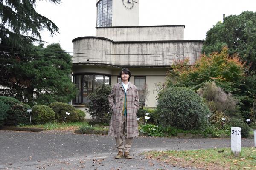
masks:
<svg viewBox="0 0 256 170"><path fill-rule="evenodd" d="M157 113L163 126L184 130L199 129L205 125L209 109L203 99L185 87L169 87L157 99Z"/></svg>

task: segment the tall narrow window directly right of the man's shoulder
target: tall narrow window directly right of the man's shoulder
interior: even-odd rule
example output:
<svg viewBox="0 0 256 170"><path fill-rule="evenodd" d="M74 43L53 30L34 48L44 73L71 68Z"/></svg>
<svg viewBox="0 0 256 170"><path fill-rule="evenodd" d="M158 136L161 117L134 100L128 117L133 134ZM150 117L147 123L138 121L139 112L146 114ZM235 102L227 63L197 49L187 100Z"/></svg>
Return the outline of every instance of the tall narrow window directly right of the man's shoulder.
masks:
<svg viewBox="0 0 256 170"><path fill-rule="evenodd" d="M134 77L134 85L139 93L140 105L146 103L146 77Z"/></svg>

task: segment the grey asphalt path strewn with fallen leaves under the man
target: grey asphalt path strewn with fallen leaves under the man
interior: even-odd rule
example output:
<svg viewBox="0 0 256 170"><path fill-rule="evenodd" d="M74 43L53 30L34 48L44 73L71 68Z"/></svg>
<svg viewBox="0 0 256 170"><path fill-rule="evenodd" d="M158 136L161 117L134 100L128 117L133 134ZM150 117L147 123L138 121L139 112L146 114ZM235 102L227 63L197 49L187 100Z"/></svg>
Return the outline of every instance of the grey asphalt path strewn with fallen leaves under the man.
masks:
<svg viewBox="0 0 256 170"><path fill-rule="evenodd" d="M184 170L149 161L140 153L149 150L230 147L230 139L137 137L130 151L134 156L131 160L114 159L114 144L112 137L103 135L0 130L0 169ZM253 146L253 139L242 139L242 146Z"/></svg>

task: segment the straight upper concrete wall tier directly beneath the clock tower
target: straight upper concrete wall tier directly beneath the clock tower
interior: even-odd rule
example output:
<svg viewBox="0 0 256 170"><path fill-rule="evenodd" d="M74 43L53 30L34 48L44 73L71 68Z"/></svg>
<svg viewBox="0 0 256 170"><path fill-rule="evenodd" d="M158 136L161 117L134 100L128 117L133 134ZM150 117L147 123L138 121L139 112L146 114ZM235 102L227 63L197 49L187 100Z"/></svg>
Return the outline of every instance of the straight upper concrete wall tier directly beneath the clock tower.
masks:
<svg viewBox="0 0 256 170"><path fill-rule="evenodd" d="M169 41L184 40L185 25L177 26L137 26L96 28L97 37L113 41Z"/></svg>

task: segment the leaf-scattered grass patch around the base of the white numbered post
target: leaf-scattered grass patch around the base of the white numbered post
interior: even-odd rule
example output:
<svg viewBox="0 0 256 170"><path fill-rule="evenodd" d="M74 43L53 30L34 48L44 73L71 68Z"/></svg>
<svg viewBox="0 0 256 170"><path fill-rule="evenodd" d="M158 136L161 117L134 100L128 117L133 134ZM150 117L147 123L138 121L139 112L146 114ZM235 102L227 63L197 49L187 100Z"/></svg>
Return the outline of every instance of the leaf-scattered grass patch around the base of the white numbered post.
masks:
<svg viewBox="0 0 256 170"><path fill-rule="evenodd" d="M205 170L256 170L256 148L242 147L241 156L231 156L230 148L150 151L145 152L147 159L180 167L193 167Z"/></svg>

